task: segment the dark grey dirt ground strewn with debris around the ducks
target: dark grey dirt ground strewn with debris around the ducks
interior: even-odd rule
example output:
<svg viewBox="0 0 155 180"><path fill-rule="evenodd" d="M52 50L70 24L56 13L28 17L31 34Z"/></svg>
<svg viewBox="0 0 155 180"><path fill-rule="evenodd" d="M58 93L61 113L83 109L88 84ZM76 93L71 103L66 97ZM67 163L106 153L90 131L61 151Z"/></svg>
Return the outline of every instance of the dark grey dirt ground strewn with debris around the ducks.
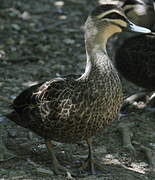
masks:
<svg viewBox="0 0 155 180"><path fill-rule="evenodd" d="M85 66L83 24L98 1L0 1L0 180L65 179L50 170L43 139L5 118L12 101L23 89L59 75L81 74ZM124 96L141 91L123 81ZM94 137L94 154L103 171L84 180L154 180L155 114L130 109ZM128 123L136 155L122 144L120 123ZM144 148L149 149L148 161ZM55 142L60 163L76 171L87 157L85 142ZM151 164L151 163L152 164ZM81 177L82 176L82 177Z"/></svg>

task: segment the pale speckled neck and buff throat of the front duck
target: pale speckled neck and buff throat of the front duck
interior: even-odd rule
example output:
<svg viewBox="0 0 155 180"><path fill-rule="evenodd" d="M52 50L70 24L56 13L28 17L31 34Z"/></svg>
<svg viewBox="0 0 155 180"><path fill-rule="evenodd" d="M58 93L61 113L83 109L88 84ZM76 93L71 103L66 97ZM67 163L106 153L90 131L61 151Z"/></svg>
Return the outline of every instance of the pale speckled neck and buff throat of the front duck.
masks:
<svg viewBox="0 0 155 180"><path fill-rule="evenodd" d="M109 38L116 32L121 32L121 28L115 25L99 29L92 27L91 30L85 32L87 64L82 77L92 79L107 76L109 73L117 74L106 50Z"/></svg>

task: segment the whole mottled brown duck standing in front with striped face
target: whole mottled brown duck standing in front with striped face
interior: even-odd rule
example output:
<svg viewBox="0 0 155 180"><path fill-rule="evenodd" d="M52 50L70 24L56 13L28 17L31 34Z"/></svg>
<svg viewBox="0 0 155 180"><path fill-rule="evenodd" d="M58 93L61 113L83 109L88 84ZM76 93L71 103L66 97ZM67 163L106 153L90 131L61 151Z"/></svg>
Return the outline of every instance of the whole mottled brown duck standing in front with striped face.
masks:
<svg viewBox="0 0 155 180"><path fill-rule="evenodd" d="M14 100L14 111L8 117L45 139L56 174L67 170L58 163L51 140L62 143L86 140L87 162L95 173L91 137L116 117L122 104L121 82L107 55L106 43L113 34L126 30L149 32L130 23L114 5L97 7L85 23L84 74L34 85Z"/></svg>

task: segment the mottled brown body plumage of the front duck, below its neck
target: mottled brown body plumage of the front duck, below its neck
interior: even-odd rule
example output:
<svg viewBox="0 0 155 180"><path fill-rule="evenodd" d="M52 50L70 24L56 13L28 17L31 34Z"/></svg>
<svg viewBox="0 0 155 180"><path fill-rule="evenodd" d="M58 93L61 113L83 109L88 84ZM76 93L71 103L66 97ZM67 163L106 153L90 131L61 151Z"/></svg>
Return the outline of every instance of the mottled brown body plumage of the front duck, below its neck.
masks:
<svg viewBox="0 0 155 180"><path fill-rule="evenodd" d="M98 55L98 58L102 61L103 56ZM86 140L113 120L119 110L121 88L116 75L109 73L101 80L101 77L95 78L100 76L96 70L92 78L55 78L41 86L33 86L14 101L14 109L22 119L16 123L45 139L63 143ZM117 77L114 87L111 86L111 76ZM111 91L116 94L112 96Z"/></svg>

